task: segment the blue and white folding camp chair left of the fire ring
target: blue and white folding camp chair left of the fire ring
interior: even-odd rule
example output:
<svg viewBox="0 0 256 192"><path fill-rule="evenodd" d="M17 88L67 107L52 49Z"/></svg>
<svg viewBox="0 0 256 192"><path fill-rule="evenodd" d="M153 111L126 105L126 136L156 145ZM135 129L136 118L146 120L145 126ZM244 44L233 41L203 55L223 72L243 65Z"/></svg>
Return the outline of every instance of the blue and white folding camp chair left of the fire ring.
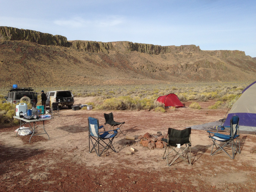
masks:
<svg viewBox="0 0 256 192"><path fill-rule="evenodd" d="M103 153L103 151L105 149L108 150L108 148L111 148L114 152L116 152L112 144L112 141L117 135L117 130L119 128L115 130L110 130L114 132L114 134L111 134L105 131L105 128L102 125L99 126L99 120L93 117L88 117L88 124L89 124L89 152L91 153L92 150L94 149L96 151L97 156L100 156ZM102 129L102 128L104 131L99 132L99 129ZM105 140L107 141L105 142ZM93 146L92 149L90 149L90 142L92 143L92 146ZM101 149L100 149L100 145L101 145Z"/></svg>

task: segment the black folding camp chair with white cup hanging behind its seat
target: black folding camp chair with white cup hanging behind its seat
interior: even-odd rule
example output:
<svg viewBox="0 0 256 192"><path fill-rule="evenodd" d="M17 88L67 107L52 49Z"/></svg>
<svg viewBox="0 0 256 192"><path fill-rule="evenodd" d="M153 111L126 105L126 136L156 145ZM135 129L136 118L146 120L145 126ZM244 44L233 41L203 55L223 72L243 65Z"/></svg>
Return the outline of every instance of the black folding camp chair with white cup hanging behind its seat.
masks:
<svg viewBox="0 0 256 192"><path fill-rule="evenodd" d="M190 134L191 134L191 127L183 129L183 130L177 130L173 128L168 128L168 135L167 139L162 138L162 141L164 141L164 155L163 159L166 158L167 165L171 166L171 164L176 161L179 157L184 161L186 156L188 156L188 163L191 165L191 141L190 141ZM165 143L166 147L165 147ZM184 149L182 149L182 145L186 145ZM169 152L169 147L172 149L171 152L175 152L175 155L178 155L170 164L169 164L169 156L171 155L171 152ZM176 150L175 150L176 148ZM166 152L167 149L167 152ZM179 150L177 150L179 149ZM174 156L175 157L175 156ZM173 158L174 158L173 157Z"/></svg>

